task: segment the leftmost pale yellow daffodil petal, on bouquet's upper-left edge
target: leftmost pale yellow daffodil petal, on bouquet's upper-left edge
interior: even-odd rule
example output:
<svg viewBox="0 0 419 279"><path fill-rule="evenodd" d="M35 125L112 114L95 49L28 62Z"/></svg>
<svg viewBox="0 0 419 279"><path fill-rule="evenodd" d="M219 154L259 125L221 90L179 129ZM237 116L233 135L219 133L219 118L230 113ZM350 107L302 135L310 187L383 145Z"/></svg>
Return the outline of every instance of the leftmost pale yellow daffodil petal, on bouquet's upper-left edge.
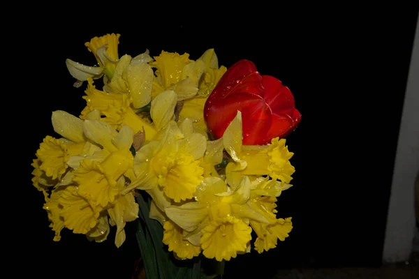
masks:
<svg viewBox="0 0 419 279"><path fill-rule="evenodd" d="M51 120L54 131L59 135L72 142L85 142L82 119L63 110L56 110L52 112Z"/></svg>

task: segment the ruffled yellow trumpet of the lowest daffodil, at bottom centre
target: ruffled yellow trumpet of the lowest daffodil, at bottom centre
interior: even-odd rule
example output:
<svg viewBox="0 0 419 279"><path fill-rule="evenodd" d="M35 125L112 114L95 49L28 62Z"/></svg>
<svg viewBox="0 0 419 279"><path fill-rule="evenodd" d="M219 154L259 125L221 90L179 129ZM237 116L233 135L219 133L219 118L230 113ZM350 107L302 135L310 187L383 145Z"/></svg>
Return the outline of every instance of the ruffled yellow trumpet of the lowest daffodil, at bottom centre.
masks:
<svg viewBox="0 0 419 279"><path fill-rule="evenodd" d="M202 233L203 255L219 262L237 257L237 252L245 252L251 241L251 227L233 216L213 220Z"/></svg>

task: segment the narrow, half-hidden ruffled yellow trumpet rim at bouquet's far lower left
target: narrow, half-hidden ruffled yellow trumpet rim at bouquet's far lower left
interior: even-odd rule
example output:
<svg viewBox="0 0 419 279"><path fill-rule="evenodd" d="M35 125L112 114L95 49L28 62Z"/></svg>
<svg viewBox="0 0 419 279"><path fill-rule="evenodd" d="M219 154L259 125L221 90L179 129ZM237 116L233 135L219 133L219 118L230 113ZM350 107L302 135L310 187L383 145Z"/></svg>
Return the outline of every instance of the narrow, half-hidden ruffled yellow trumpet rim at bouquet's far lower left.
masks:
<svg viewBox="0 0 419 279"><path fill-rule="evenodd" d="M60 232L64 229L64 218L60 216L61 209L63 209L63 206L59 204L61 193L63 193L62 188L52 190L51 197L46 198L45 204L43 205L43 209L47 211L48 219L51 222L50 227L55 232L54 241L61 239Z"/></svg>

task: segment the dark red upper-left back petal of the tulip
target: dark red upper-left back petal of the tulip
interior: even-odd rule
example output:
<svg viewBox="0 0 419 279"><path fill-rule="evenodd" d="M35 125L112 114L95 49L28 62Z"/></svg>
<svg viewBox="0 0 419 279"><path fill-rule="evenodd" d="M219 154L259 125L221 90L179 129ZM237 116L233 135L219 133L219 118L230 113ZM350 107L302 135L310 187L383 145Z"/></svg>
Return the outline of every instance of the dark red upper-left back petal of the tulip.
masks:
<svg viewBox="0 0 419 279"><path fill-rule="evenodd" d="M240 60L233 64L216 84L204 107L204 118L207 120L209 106L221 101L228 96L232 89L237 93L244 91L249 93L263 93L262 78L257 72L256 66L249 60ZM237 86L238 85L238 86Z"/></svg>

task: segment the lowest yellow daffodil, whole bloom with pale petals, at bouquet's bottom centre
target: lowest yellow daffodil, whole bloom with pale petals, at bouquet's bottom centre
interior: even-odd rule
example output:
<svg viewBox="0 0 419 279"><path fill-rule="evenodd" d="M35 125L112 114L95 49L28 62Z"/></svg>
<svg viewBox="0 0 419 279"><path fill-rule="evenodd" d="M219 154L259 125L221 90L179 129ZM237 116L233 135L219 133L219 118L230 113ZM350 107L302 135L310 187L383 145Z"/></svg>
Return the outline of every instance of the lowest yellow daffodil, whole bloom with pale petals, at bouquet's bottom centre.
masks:
<svg viewBox="0 0 419 279"><path fill-rule="evenodd" d="M235 190L218 177L207 177L196 188L196 202L168 206L165 212L172 222L184 229L184 239L201 246L205 257L230 260L237 252L248 250L249 220L268 223L247 204L250 187L247 176Z"/></svg>

